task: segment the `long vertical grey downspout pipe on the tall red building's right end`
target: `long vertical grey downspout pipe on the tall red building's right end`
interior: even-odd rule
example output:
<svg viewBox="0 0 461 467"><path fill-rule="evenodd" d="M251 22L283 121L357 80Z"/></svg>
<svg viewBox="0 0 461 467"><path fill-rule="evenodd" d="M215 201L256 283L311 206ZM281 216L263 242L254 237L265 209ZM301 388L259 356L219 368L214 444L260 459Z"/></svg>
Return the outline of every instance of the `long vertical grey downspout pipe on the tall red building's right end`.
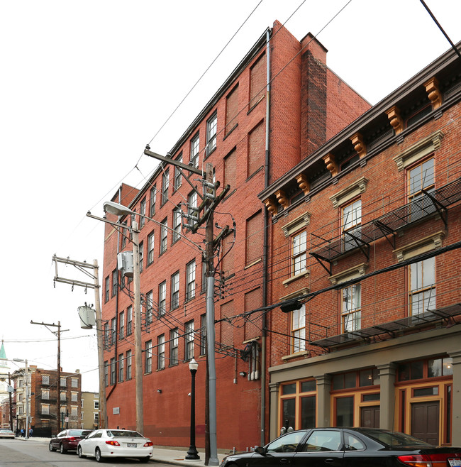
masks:
<svg viewBox="0 0 461 467"><path fill-rule="evenodd" d="M269 186L270 158L269 158L269 131L270 131L270 30L266 32L266 141L265 141L265 167L264 187ZM262 253L262 306L267 306L267 256L269 253L269 212L264 209L264 235ZM267 346L267 318L262 314L261 336L261 446L266 444L266 346Z"/></svg>

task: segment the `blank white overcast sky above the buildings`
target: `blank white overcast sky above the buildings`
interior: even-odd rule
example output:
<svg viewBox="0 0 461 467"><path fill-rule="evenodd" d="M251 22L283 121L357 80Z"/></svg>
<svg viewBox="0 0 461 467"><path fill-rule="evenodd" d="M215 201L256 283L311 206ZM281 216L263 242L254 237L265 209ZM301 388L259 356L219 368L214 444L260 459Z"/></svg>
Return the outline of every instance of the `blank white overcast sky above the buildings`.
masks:
<svg viewBox="0 0 461 467"><path fill-rule="evenodd" d="M155 168L145 144L259 3L0 0L0 188L10 206L0 230L0 337L8 358L56 368L55 336L30 321L60 321L69 329L63 370L79 368L83 389L98 390L96 338L77 315L94 293L53 288L52 255L102 263L103 224L85 214L101 216L122 181L143 185ZM426 3L461 40L461 1ZM170 150L265 28L300 4L262 0L152 150ZM306 0L286 26L299 40L321 31L328 66L372 104L450 48L419 0ZM77 271L60 265L60 275Z"/></svg>

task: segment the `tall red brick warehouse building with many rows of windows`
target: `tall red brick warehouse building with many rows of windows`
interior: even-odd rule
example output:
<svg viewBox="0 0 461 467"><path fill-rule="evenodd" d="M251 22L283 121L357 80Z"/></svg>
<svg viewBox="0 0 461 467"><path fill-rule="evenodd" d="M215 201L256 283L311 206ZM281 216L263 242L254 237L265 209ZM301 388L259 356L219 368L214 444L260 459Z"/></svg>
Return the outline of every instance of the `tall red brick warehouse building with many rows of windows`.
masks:
<svg viewBox="0 0 461 467"><path fill-rule="evenodd" d="M230 186L216 209L216 373L218 448L245 449L269 438L263 317L235 324L235 315L267 305L269 216L257 194L355 120L370 105L326 67L326 50L311 35L301 42L280 23L265 31L213 95L169 157L205 170ZM155 150L155 148L153 148ZM153 161L152 161L153 163ZM189 175L189 174L187 174ZM201 191L199 176L189 177ZM218 190L218 194L219 194ZM133 283L116 257L132 248L106 224L103 305L109 427L135 428L135 381L143 378L146 436L157 445L189 444L191 375L196 375L196 444L204 446L204 231L187 234L180 210L197 206L193 187L162 163L144 187L122 185L113 201L140 221L143 375L135 375ZM108 214L109 221L132 219ZM128 234L128 231L125 232ZM261 390L264 388L264 390Z"/></svg>

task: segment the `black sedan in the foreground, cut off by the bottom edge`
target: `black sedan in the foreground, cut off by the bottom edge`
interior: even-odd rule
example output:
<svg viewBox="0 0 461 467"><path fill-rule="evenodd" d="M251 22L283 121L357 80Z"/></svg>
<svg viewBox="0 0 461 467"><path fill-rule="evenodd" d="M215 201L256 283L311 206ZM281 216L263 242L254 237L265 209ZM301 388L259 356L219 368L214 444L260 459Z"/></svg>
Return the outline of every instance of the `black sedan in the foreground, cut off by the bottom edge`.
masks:
<svg viewBox="0 0 461 467"><path fill-rule="evenodd" d="M221 467L284 466L455 467L461 466L461 448L433 446L384 429L313 428L289 432L221 463Z"/></svg>

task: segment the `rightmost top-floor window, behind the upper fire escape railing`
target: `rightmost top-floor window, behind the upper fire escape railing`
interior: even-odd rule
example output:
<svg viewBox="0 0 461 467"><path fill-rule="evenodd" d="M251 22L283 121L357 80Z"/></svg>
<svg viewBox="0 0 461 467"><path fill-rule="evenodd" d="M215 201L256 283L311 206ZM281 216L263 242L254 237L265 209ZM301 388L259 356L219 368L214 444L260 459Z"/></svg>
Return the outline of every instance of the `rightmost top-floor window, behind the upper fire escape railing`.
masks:
<svg viewBox="0 0 461 467"><path fill-rule="evenodd" d="M411 221L416 221L426 214L435 212L435 206L431 199L423 193L430 193L435 189L434 159L425 160L423 163L412 167L407 172L408 194L410 203Z"/></svg>

